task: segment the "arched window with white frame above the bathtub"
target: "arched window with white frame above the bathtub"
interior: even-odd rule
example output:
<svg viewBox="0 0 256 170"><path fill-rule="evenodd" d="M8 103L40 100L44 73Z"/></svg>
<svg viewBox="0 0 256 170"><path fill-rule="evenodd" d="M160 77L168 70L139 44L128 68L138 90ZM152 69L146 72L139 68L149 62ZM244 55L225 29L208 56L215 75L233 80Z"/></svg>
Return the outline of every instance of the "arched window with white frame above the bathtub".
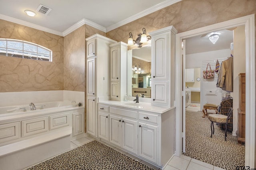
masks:
<svg viewBox="0 0 256 170"><path fill-rule="evenodd" d="M18 39L0 38L0 55L23 59L52 61L52 50L35 43Z"/></svg>

